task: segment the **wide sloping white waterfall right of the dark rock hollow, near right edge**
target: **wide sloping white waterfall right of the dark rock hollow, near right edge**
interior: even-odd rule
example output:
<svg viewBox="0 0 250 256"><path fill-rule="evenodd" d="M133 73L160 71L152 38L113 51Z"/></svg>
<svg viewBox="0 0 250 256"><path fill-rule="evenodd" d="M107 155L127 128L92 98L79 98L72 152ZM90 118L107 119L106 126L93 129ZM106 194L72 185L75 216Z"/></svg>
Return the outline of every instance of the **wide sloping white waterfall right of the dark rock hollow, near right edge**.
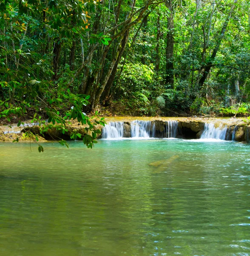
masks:
<svg viewBox="0 0 250 256"><path fill-rule="evenodd" d="M222 127L220 125L218 128L215 128L213 123L205 123L201 139L225 140L226 133L227 126Z"/></svg>

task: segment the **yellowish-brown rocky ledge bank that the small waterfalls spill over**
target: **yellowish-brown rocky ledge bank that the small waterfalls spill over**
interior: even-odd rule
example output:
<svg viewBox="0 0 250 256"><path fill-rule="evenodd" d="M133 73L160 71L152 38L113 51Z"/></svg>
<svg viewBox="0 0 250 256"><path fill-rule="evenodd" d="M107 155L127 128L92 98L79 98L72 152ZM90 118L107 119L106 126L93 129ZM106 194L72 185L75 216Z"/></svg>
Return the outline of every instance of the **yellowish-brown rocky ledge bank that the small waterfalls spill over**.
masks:
<svg viewBox="0 0 250 256"><path fill-rule="evenodd" d="M120 137L133 137L132 130L134 129L134 124L144 125L147 127L149 137L162 138L170 136L166 134L173 130L171 125L176 126L175 137L184 138L184 139L199 139L202 136L202 133L210 124L210 128L215 128L215 132L224 131L225 140L236 140L239 142L246 141L250 142L250 124L244 118L211 118L211 117L105 117L107 122L106 127L104 128L101 125L97 125L95 129L102 131L101 134L98 134L97 138L105 138L104 131L107 130L109 126L116 127L119 125L119 129L122 129L120 132L122 136ZM26 131L31 131L32 134L37 136L38 141L46 140L57 140L62 138L64 140L70 140L70 134L73 130L76 130L79 134L84 136L86 125L81 125L79 122L73 121L68 127L68 132L66 134L60 134L60 131L56 129L49 129L45 133L45 137L39 136L39 126L37 124L32 124L30 122L25 123L24 125L17 124L11 125L2 125L0 126L0 141L37 141L35 136L31 139L23 137L23 134ZM113 129L114 130L114 129ZM117 130L117 129L116 129ZM139 130L138 130L139 132ZM142 137L142 134L137 134ZM173 135L173 134L172 134Z"/></svg>

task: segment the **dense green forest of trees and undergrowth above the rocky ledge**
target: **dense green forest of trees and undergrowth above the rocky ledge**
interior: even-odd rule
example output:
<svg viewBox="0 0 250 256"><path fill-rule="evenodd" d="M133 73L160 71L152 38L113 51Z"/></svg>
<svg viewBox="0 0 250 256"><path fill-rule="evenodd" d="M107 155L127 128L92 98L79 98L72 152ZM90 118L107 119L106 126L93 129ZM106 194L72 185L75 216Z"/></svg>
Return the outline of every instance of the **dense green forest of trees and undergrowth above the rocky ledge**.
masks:
<svg viewBox="0 0 250 256"><path fill-rule="evenodd" d="M2 119L249 113L247 0L2 0L0 12Z"/></svg>

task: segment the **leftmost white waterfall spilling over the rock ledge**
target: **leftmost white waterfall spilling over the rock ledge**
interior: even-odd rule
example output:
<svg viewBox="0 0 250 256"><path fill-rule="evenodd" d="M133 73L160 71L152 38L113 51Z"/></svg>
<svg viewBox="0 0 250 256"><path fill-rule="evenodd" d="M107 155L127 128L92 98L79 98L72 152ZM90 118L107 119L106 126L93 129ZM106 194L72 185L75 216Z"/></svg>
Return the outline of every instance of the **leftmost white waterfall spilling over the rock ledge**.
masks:
<svg viewBox="0 0 250 256"><path fill-rule="evenodd" d="M124 122L110 122L102 129L103 139L119 139L123 137Z"/></svg>

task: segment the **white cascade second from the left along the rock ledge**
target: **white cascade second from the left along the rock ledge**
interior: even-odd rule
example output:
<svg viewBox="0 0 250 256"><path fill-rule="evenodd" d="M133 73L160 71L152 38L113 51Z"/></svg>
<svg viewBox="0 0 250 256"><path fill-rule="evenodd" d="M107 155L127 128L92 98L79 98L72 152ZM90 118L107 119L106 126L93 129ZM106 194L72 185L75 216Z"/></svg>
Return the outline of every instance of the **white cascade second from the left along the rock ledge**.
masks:
<svg viewBox="0 0 250 256"><path fill-rule="evenodd" d="M152 128L151 128L152 126ZM155 137L155 122L135 120L131 122L131 137Z"/></svg>

